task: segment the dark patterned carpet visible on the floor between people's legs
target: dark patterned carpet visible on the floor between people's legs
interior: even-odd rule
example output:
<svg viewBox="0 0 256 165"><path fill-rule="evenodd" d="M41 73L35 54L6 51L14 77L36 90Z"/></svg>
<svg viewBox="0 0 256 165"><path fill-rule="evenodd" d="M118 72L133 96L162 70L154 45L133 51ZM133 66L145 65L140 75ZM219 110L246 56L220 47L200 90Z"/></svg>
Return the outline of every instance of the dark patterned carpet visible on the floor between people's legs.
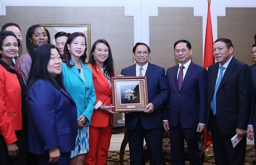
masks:
<svg viewBox="0 0 256 165"><path fill-rule="evenodd" d="M108 160L119 161L119 151L108 151ZM107 165L119 165L119 164L120 163L118 162L110 162L110 161L107 162ZM256 165L254 145L247 145L245 164ZM124 153L124 165L130 165L130 154L128 150L125 151ZM146 165L149 165L149 162L147 162ZM189 165L188 161L186 161L186 165ZM204 165L215 165L214 157L205 157Z"/></svg>

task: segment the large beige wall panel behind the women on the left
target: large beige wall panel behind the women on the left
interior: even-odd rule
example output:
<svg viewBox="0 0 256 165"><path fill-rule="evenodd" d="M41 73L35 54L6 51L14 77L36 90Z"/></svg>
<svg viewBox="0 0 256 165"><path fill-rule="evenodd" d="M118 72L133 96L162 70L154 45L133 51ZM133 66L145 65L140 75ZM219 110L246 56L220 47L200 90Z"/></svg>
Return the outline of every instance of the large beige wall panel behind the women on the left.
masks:
<svg viewBox="0 0 256 165"><path fill-rule="evenodd" d="M110 44L116 74L134 64L134 23L132 16L124 16L123 7L6 7L0 16L0 27L17 23L22 30L23 44L19 54L26 52L26 32L34 24L91 24L91 46L104 38Z"/></svg>

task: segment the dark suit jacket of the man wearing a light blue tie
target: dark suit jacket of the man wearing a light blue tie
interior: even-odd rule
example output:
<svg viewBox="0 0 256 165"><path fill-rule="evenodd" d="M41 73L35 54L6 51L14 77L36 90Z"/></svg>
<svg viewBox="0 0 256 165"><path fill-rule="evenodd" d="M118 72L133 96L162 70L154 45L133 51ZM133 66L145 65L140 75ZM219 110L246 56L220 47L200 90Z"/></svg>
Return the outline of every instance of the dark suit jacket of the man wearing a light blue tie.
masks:
<svg viewBox="0 0 256 165"><path fill-rule="evenodd" d="M219 63L208 68L208 119ZM216 117L224 135L236 134L236 128L246 129L251 106L251 76L247 64L231 59L216 93ZM210 123L210 122L208 122ZM211 128L208 127L208 131Z"/></svg>

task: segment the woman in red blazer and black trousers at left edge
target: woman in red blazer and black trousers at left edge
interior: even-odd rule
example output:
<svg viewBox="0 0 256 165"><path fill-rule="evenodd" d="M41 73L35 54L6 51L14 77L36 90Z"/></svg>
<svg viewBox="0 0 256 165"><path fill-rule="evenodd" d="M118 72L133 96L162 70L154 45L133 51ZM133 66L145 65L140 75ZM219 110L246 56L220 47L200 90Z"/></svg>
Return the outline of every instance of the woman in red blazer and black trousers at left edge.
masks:
<svg viewBox="0 0 256 165"><path fill-rule="evenodd" d="M13 32L0 32L0 164L28 164L25 83L12 68L20 40ZM22 102L24 101L24 102Z"/></svg>

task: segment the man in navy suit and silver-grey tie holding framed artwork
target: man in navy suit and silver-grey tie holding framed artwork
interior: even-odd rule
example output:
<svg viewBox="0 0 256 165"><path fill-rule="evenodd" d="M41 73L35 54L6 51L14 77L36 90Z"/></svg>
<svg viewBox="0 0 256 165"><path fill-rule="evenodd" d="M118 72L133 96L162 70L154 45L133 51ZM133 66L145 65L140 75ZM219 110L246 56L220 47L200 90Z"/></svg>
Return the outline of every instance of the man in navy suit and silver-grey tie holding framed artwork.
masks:
<svg viewBox="0 0 256 165"><path fill-rule="evenodd" d="M169 95L164 68L151 64L150 48L136 43L132 50L136 64L122 69L124 76L146 76L148 105L146 111L125 115L128 133L130 164L140 165L144 138L148 147L150 165L162 165L162 104Z"/></svg>

